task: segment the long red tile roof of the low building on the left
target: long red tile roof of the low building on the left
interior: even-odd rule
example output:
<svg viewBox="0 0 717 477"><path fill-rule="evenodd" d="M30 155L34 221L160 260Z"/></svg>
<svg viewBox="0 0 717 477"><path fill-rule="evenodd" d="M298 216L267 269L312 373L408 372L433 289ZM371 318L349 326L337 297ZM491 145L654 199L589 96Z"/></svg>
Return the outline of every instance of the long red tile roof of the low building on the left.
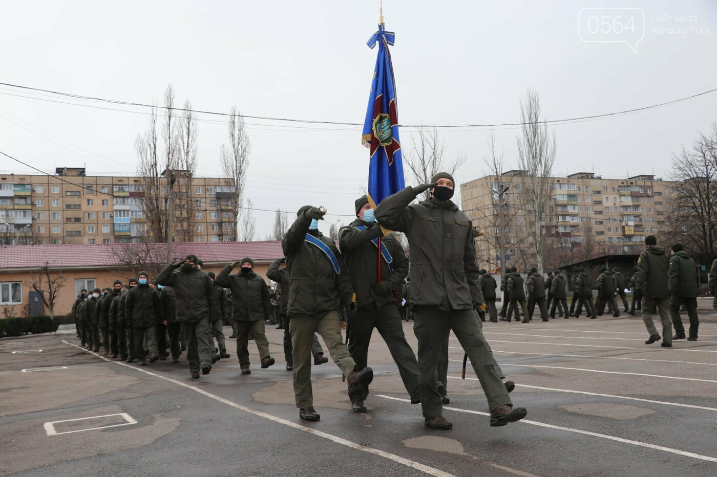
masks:
<svg viewBox="0 0 717 477"><path fill-rule="evenodd" d="M49 262L53 268L80 266L120 266L128 255L137 254L166 261L166 244L65 244L7 245L0 247L2 269L37 269ZM256 242L186 242L173 245L174 260L195 254L205 264L230 262L251 257L255 261L272 261L284 256L280 241Z"/></svg>

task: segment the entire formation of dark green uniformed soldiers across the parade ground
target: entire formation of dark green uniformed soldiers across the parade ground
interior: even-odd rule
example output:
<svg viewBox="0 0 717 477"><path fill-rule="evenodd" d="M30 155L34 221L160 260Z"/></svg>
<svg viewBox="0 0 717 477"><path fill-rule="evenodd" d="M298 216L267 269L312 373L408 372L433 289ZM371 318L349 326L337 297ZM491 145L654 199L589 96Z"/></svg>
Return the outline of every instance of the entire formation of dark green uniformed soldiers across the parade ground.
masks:
<svg viewBox="0 0 717 477"><path fill-rule="evenodd" d="M522 322L529 323L537 305L543 322L554 319L556 311L559 317L579 317L583 308L594 319L607 306L617 317L615 298L620 297L625 312L634 314L635 307L641 310L650 332L647 344L662 339L663 347L671 347L673 339L685 338L680 307L685 307L690 319L687 339L697 339L694 262L680 244L673 244L673 255L668 257L656 246L654 236L645 239L646 249L629 283L635 291L632 310L625 298L628 284L617 269L602 267L595 286L584 267L573 269L568 307L561 271L549 271L544 277L533 267L523 280L512 267L500 284L505 299L498 313L498 284L488 271L478 269L474 238L480 232L450 200L454 186L450 174L440 173L431 183L407 187L375 208L366 196L357 199L356 220L341 228L338 246L318 230L326 210L303 206L282 239L284 256L267 271L267 277L276 282L274 291L255 273L251 257L227 264L215 277L201 270L201 260L193 254L166 266L154 281L142 271L126 285L116 280L112 288L95 289L90 295L83 290L73 307L78 336L89 350L98 352L103 347L105 355L141 366L170 355L177 363L186 350L191 377L199 378L200 372L209 374L217 360L230 357L222 332L227 315L242 374L251 373L250 339L257 345L261 367L275 364L265 324L278 322L284 329L286 370L293 372L299 417L320 420L313 407L311 360L320 365L328 358L323 357L316 334L343 373L351 410L366 413L374 377L369 342L376 329L388 345L410 402L421 405L424 424L435 429L452 428L442 415L442 405L450 403L446 387L451 331L480 380L490 425L506 425L527 415L525 408L513 406L508 393L515 384L503 382L505 375L483 337L486 315L490 322L498 322L499 315L510 322L515 312L516 321L521 321L522 314ZM424 191L429 191L429 198L412 203ZM409 259L386 229L406 234ZM235 269L237 273L232 273ZM716 285L717 260L711 269L711 294ZM595 288L597 303L593 302ZM662 337L652 324L653 307L660 310ZM402 319L414 320L417 355L404 336ZM346 342L342 321L346 322Z"/></svg>

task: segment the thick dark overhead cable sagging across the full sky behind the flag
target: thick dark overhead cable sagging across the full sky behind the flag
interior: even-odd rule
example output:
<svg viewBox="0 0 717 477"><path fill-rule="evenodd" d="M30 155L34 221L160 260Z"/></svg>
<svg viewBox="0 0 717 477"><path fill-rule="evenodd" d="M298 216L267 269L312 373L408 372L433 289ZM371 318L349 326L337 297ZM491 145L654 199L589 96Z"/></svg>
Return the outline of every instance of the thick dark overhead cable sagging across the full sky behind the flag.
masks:
<svg viewBox="0 0 717 477"><path fill-rule="evenodd" d="M147 105L141 102L133 102L133 101L121 101L121 100L108 100L105 98L100 97L92 97L92 96L85 96L85 95L74 95L72 93L67 92L59 92L59 91L52 91L52 90L44 90L42 88L34 88L29 86L22 86L22 85L12 85L11 83L4 83L0 82L0 85L14 87L22 90L29 90L29 91L38 91L38 92L46 92L50 93L52 95L59 95L64 97L70 97L75 100L94 100L94 101L101 101L101 102L108 102L115 105L126 105L126 106L139 106L139 107L151 107L156 108L156 105ZM690 95L686 97L682 97L678 100L670 100L665 102L660 102L655 105L650 106L644 106L644 107L637 107L630 110L622 110L617 112L608 112L600 115L589 115L589 116L581 116L581 117L571 117L567 119L562 120L545 120L545 121L538 121L538 124L542 125L555 125L555 124L561 124L564 122L575 122L575 121L581 121L581 120L593 120L593 119L599 119L604 117L611 117L611 116L617 116L617 115L624 115L631 112L640 112L645 110L651 110L655 107L661 107L666 105L675 104L678 102L683 102L687 100L692 100L696 97L701 97L703 95L708 95L712 92L717 91L717 88L714 88L712 90L707 90L704 92L697 93L695 95ZM34 98L39 99L39 98ZM92 107L90 105L84 105L87 107ZM268 117L268 116L255 116L255 115L232 115L227 112L216 112L216 111L204 111L204 110L194 110L189 108L183 108L183 107L164 107L163 109L168 110L175 110L175 111L181 111L181 112L195 112L198 114L206 114L206 115L217 115L217 116L224 116L224 117L242 117L242 118L248 118L248 119L255 119L255 120L267 120L267 121L282 121L282 122L300 122L300 123L306 123L306 124L326 124L326 125L343 125L343 126L363 126L362 123L359 122L342 122L342 121L319 121L319 120L302 120L302 119L295 119L295 118L288 118L288 117ZM467 124L467 125L432 125L432 127L440 127L440 128L455 128L455 127L502 127L502 126L523 126L533 124L531 122L501 122L501 123L494 123L494 124ZM399 125L402 127L422 127L422 125Z"/></svg>

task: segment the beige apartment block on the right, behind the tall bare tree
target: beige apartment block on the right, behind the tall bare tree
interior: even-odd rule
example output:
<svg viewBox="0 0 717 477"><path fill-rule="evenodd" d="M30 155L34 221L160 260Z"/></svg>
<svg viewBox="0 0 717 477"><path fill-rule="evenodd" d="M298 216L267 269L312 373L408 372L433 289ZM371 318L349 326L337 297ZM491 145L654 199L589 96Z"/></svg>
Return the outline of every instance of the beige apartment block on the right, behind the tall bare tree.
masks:
<svg viewBox="0 0 717 477"><path fill-rule="evenodd" d="M524 170L488 175L461 185L462 209L484 236L476 241L479 259L500 266L500 231L505 266L526 269L536 263L536 224L526 201ZM665 227L670 182L654 175L626 179L575 173L549 180L546 266L561 266L607 254L637 254L645 236Z"/></svg>

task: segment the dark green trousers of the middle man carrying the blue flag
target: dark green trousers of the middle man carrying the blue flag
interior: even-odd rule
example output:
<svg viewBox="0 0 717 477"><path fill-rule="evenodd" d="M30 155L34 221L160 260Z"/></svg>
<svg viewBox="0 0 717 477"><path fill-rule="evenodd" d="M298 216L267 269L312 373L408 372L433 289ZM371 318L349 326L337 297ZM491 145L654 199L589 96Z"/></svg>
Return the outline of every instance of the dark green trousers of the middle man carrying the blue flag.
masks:
<svg viewBox="0 0 717 477"><path fill-rule="evenodd" d="M399 375L409 395L418 387L418 361L406 341L399 309L391 302L374 309L362 309L351 318L348 351L356 362L356 370L368 366L369 342L374 329L389 347L391 357L399 368Z"/></svg>

